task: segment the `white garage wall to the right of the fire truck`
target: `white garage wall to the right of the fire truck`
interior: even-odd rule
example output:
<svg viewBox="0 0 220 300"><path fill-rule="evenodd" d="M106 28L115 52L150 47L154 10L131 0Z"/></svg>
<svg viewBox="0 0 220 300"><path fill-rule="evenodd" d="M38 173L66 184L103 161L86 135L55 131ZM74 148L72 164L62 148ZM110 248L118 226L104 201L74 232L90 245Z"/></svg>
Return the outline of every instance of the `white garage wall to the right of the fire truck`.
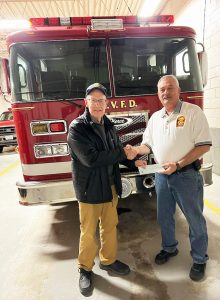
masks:
<svg viewBox="0 0 220 300"><path fill-rule="evenodd" d="M178 15L175 25L193 27L197 42L202 42L208 56L208 82L205 86L204 111L211 128L213 146L205 156L220 175L220 1L191 0Z"/></svg>

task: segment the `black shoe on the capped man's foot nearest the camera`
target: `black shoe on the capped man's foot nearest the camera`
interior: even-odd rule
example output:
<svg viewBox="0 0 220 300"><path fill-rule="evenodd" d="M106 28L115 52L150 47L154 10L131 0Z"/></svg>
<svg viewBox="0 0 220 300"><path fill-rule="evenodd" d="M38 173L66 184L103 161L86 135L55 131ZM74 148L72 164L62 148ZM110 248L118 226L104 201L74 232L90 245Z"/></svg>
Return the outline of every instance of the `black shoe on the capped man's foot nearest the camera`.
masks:
<svg viewBox="0 0 220 300"><path fill-rule="evenodd" d="M90 296L93 291L93 282L92 282L92 271L86 271L82 268L79 269L79 289L82 295Z"/></svg>

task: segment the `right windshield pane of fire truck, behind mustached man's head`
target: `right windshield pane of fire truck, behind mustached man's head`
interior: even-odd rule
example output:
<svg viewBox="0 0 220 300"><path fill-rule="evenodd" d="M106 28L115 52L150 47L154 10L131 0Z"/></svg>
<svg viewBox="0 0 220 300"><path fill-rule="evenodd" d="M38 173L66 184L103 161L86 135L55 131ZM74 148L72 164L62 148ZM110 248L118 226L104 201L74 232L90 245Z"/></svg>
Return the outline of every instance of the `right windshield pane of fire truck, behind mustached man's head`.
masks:
<svg viewBox="0 0 220 300"><path fill-rule="evenodd" d="M154 94L166 74L176 75L182 91L202 90L193 39L113 39L111 54L117 96Z"/></svg>

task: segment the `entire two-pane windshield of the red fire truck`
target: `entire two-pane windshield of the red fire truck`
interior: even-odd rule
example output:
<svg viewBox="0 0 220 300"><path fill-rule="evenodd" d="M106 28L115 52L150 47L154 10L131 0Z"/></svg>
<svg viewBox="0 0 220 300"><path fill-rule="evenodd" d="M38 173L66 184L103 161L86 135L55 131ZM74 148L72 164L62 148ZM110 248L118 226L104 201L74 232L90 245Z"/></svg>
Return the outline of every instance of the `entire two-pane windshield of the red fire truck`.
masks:
<svg viewBox="0 0 220 300"><path fill-rule="evenodd" d="M102 83L108 97L155 94L159 78L166 74L177 76L183 92L202 90L191 38L18 43L11 47L10 56L16 102L84 98L86 87L93 82Z"/></svg>

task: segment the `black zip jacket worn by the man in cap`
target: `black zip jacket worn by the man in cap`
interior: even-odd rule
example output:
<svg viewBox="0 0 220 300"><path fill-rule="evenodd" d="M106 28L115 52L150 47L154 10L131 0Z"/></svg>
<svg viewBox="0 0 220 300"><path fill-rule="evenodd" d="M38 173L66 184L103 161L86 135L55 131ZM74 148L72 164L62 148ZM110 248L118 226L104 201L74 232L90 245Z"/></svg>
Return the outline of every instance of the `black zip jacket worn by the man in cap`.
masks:
<svg viewBox="0 0 220 300"><path fill-rule="evenodd" d="M126 159L114 124L105 115L103 120L109 149L95 130L87 108L69 127L73 186L77 200L85 203L112 201L109 165L113 165L114 184L119 196L122 193L119 162L134 168L134 162Z"/></svg>

